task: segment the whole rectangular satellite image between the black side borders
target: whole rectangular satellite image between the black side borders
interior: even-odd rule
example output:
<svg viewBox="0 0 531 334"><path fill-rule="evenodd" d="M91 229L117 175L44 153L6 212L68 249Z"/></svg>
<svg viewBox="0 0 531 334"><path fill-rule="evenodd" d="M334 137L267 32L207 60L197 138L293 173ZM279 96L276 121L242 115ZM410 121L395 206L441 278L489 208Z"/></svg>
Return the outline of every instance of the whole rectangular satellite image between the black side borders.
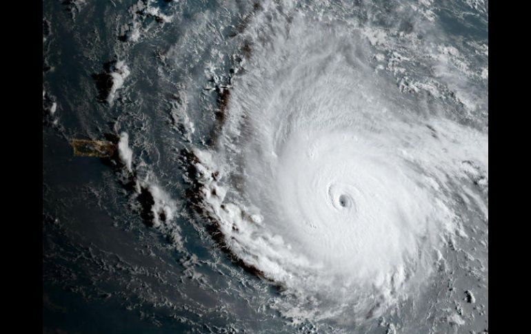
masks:
<svg viewBox="0 0 531 334"><path fill-rule="evenodd" d="M43 0L43 333L488 332L488 1Z"/></svg>

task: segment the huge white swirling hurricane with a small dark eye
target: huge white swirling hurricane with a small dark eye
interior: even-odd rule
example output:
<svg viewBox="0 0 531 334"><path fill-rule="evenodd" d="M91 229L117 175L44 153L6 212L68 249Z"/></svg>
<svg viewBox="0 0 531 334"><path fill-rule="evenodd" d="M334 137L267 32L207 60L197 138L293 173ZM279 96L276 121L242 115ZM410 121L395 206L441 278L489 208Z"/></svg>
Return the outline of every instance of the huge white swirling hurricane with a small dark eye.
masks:
<svg viewBox="0 0 531 334"><path fill-rule="evenodd" d="M375 317L463 233L454 196L467 170L488 172L487 135L402 94L361 32L268 23L246 32L216 147L194 152L203 207L232 253L294 296L288 315Z"/></svg>

